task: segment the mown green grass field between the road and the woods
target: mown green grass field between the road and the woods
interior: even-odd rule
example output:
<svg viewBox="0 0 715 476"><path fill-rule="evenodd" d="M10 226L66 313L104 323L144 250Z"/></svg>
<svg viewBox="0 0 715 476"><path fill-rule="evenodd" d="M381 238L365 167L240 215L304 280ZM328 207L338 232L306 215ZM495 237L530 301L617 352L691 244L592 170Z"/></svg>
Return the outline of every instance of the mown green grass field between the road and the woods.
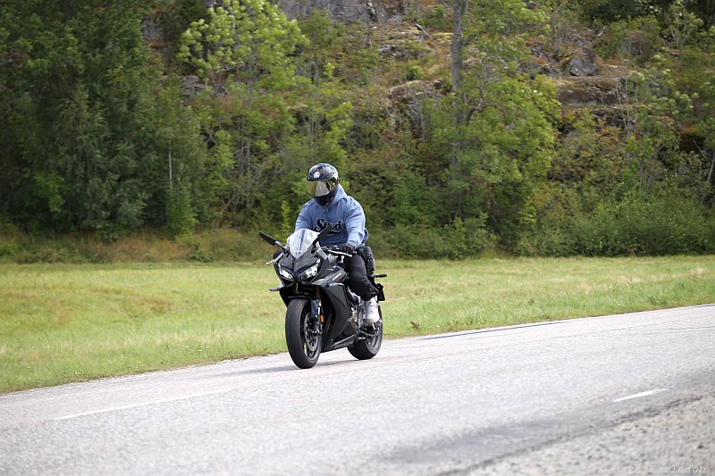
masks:
<svg viewBox="0 0 715 476"><path fill-rule="evenodd" d="M388 338L715 302L715 256L378 268ZM276 283L257 263L0 264L0 392L283 352Z"/></svg>

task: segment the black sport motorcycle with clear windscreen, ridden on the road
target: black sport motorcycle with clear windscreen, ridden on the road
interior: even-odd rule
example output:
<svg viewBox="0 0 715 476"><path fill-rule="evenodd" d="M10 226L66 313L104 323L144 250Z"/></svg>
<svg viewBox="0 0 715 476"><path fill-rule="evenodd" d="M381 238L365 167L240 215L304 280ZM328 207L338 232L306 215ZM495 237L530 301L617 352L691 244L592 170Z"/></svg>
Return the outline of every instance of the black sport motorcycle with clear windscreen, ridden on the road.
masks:
<svg viewBox="0 0 715 476"><path fill-rule="evenodd" d="M273 268L281 280L279 288L288 307L285 313L285 341L293 362L301 369L309 369L318 361L321 352L348 347L357 359L373 358L383 344L383 312L380 320L366 322L362 300L348 288L348 273L343 269L346 256L336 247L320 246L321 238L332 227L320 233L297 230L290 235L286 246L263 231L261 238L281 248L273 261ZM366 259L368 278L378 290L378 303L384 300L383 285L375 278L374 260L369 248L361 250ZM366 253L366 254L365 254Z"/></svg>

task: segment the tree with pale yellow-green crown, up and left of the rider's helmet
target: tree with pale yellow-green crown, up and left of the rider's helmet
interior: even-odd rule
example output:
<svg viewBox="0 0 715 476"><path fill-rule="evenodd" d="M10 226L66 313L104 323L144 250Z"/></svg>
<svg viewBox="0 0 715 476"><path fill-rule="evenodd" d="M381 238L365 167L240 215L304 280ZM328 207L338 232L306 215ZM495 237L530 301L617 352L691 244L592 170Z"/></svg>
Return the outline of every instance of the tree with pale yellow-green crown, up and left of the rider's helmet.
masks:
<svg viewBox="0 0 715 476"><path fill-rule="evenodd" d="M226 0L191 23L178 59L196 68L208 89L206 133L231 135L234 166L225 210L255 205L271 142L285 135L292 118L279 92L295 85L294 56L306 43L296 21L265 0ZM225 139L225 137L224 137Z"/></svg>

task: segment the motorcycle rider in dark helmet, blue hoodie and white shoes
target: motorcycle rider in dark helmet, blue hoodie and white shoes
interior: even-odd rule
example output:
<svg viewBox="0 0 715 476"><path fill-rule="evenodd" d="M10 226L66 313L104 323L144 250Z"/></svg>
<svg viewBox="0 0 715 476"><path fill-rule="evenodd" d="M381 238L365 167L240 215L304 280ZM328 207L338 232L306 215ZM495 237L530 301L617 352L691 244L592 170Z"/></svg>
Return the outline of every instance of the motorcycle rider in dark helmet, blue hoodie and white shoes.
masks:
<svg viewBox="0 0 715 476"><path fill-rule="evenodd" d="M332 231L324 238L323 246L340 246L348 271L349 287L364 301L366 322L380 320L377 308L377 289L367 279L365 261L353 255L366 245L365 212L355 198L345 193L340 184L338 170L329 163L316 163L307 172L307 190L313 198L303 205L296 221L296 230L310 229L320 232L328 224Z"/></svg>

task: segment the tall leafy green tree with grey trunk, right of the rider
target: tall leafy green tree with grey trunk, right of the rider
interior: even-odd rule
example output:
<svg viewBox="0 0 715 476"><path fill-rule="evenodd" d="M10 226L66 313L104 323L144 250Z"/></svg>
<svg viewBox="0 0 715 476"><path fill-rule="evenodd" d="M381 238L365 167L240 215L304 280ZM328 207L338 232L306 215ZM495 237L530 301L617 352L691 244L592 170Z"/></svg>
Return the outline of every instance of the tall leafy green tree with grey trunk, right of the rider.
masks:
<svg viewBox="0 0 715 476"><path fill-rule="evenodd" d="M551 161L555 91L521 72L526 38L546 21L521 0L454 0L452 93L438 125L449 151L447 202L452 217L489 213L495 230L515 238L528 220L534 181ZM510 238L509 238L510 237Z"/></svg>

